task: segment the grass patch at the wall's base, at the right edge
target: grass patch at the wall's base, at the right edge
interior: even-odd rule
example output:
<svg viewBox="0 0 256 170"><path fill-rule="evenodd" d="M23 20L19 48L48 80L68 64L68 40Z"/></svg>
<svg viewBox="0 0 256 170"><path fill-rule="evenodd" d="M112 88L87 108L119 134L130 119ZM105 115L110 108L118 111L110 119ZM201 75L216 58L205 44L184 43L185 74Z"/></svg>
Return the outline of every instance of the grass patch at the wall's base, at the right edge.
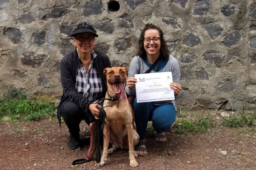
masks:
<svg viewBox="0 0 256 170"><path fill-rule="evenodd" d="M223 126L225 127L251 127L256 122L256 110L247 111L243 109L242 112L231 113L229 117L223 117Z"/></svg>

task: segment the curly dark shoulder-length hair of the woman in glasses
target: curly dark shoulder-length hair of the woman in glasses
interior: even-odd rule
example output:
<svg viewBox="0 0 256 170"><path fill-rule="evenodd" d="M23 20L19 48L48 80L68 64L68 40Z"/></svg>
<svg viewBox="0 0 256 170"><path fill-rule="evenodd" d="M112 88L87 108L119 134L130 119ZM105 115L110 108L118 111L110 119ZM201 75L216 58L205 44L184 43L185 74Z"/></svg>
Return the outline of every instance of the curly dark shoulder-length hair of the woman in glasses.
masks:
<svg viewBox="0 0 256 170"><path fill-rule="evenodd" d="M139 36L139 41L137 44L137 54L139 57L144 58L146 57L146 50L144 48L144 34L148 29L156 29L160 34L160 56L161 57L167 57L169 56L170 52L166 45L165 39L163 38L163 31L161 28L157 27L154 24L146 24L145 28L141 31L141 35Z"/></svg>

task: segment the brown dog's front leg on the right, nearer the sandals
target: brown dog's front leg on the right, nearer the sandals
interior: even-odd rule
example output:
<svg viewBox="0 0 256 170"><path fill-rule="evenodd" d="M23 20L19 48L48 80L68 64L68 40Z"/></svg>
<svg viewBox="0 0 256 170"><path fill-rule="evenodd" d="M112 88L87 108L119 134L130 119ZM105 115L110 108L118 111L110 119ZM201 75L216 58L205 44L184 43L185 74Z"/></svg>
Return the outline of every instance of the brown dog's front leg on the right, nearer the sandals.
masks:
<svg viewBox="0 0 256 170"><path fill-rule="evenodd" d="M135 159L135 154L134 154L134 146L133 146L133 126L128 125L127 127L128 130L128 141L129 141L129 159L130 159L130 166L135 168L139 166Z"/></svg>

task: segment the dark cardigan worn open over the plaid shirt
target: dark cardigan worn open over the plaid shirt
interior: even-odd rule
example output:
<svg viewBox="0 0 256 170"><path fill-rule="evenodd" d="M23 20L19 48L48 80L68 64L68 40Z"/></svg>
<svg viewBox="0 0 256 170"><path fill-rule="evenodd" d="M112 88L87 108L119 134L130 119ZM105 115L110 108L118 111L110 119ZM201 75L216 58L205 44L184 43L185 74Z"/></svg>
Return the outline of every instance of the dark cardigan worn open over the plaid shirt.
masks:
<svg viewBox="0 0 256 170"><path fill-rule="evenodd" d="M105 98L107 92L106 78L103 76L103 70L106 67L111 67L109 57L101 52L95 51L97 57L94 58L94 67L97 69L99 77L102 80L103 91L101 98ZM72 53L61 59L61 84L63 88L63 95L61 96L61 101L57 109L57 118L59 120L59 126L61 126L61 105L67 101L73 101L77 103L78 107L83 109L85 114L88 110L88 105L91 104L91 101L82 96L75 89L75 81L77 76L78 67L81 63L81 60L78 57L77 50L74 50Z"/></svg>

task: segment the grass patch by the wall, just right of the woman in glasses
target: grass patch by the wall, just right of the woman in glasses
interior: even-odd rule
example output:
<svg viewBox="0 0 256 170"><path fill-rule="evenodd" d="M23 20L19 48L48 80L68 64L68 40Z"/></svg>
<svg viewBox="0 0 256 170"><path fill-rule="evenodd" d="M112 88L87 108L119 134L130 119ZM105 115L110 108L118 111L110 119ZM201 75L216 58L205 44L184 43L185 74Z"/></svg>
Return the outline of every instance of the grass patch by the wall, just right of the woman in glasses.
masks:
<svg viewBox="0 0 256 170"><path fill-rule="evenodd" d="M210 114L210 112L205 112L202 110L201 114L195 114L190 112L190 118L178 118L175 121L175 124L173 125L173 130L175 133L204 133L208 131L211 127L214 126L214 120ZM181 109L179 110L178 115L184 115L181 113Z"/></svg>

